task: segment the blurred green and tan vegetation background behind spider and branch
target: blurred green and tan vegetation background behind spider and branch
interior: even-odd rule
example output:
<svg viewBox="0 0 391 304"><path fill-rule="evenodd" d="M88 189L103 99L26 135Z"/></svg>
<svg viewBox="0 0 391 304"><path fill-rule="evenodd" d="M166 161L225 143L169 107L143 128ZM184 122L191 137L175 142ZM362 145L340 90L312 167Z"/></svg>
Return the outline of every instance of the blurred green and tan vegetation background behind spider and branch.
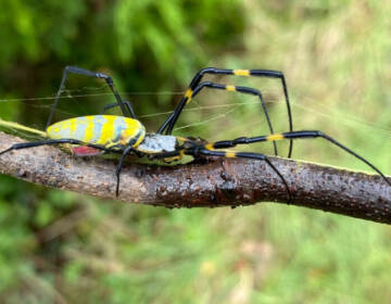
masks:
<svg viewBox="0 0 391 304"><path fill-rule="evenodd" d="M0 10L2 118L42 129L65 65L112 75L149 130L198 69L272 68L287 77L295 129L320 129L391 174L390 1L0 0ZM278 81L209 79L261 89L287 130ZM113 102L94 79L71 76L66 89L55 119ZM176 134L267 132L251 97L205 91L191 106ZM293 157L367 170L321 140L297 141ZM390 303L390 237L386 225L295 206L169 211L0 176L0 302Z"/></svg>

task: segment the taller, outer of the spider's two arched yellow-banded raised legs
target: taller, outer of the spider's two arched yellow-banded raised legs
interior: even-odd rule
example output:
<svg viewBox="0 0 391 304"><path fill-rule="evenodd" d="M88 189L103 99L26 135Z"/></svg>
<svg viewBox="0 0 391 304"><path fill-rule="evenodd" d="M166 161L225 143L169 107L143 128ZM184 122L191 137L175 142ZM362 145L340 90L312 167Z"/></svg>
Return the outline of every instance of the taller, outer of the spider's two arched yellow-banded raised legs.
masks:
<svg viewBox="0 0 391 304"><path fill-rule="evenodd" d="M272 69L223 69L223 68L215 68L215 67L206 67L206 68L199 71L195 74L195 76L192 78L185 96L180 100L179 104L177 105L175 111L167 117L167 119L163 123L163 125L160 127L157 132L160 132L160 134L163 132L167 126L169 126L168 128L171 128L171 130L173 129L176 121L178 119L178 116L180 115L180 112L182 111L185 105L189 102L188 99L192 96L192 91L200 85L201 79L205 74L279 78L281 80L285 100L286 100L286 104L287 104L289 131L293 130L292 114L291 114L291 107L290 107L290 102L289 102L287 81L281 72L272 71ZM171 131L166 131L166 134L171 134ZM293 140L291 139L289 142L288 157L291 157L292 149L293 149Z"/></svg>

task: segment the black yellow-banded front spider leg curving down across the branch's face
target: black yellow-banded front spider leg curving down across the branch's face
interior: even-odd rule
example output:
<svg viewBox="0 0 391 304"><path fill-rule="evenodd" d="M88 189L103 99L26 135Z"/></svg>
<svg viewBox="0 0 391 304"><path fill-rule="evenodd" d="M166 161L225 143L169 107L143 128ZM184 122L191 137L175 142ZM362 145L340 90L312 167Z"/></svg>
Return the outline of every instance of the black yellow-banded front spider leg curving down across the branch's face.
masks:
<svg viewBox="0 0 391 304"><path fill-rule="evenodd" d="M189 155L207 155L207 156L222 156L222 157L232 157L232 159L252 159L252 160L258 160L258 161L265 161L272 169L278 175L278 177L283 182L283 186L287 189L288 193L288 203L292 202L292 194L289 190L289 186L287 180L283 178L282 174L273 165L270 160L267 159L266 155L261 153L251 153L251 152L228 152L228 151L216 151L216 150L209 150L206 147L204 149L197 149L197 150L190 150L186 151L186 154Z"/></svg>

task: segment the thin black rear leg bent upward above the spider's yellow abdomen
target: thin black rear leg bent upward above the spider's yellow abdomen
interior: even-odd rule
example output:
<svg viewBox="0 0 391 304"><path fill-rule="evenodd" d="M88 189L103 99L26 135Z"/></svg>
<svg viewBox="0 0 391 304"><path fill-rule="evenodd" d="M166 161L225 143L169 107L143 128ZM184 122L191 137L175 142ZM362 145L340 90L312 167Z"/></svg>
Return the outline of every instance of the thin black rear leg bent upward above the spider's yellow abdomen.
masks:
<svg viewBox="0 0 391 304"><path fill-rule="evenodd" d="M47 128L51 125L55 107L56 107L56 105L59 103L59 98L60 98L61 92L63 91L63 89L65 87L65 81L66 81L66 78L67 78L70 73L71 74L78 74L78 75L89 76L89 77L96 77L96 78L103 78L108 83L110 89L112 90L112 92L113 92L113 94L114 94L114 97L115 97L115 99L117 101L117 104L121 106L121 110L124 113L124 116L130 116L131 118L136 117L131 105L129 104L130 106L128 106L128 107L125 106L124 101L122 100L118 91L114 87L113 79L109 75L103 74L103 73L91 72L91 71L84 69L84 68L80 68L80 67L77 67L77 66L65 66L64 72L63 72L63 76L62 76L62 79L61 79L59 91L58 91L58 93L55 96L54 103L53 103L53 105L51 107L51 111L50 111L50 114L49 114Z"/></svg>

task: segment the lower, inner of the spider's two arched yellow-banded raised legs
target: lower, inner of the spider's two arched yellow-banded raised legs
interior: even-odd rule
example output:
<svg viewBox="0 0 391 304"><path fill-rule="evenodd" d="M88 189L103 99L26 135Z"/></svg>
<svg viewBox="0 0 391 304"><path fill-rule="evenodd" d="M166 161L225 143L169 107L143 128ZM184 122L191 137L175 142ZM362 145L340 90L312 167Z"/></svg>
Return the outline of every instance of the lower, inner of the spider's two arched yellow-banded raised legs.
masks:
<svg viewBox="0 0 391 304"><path fill-rule="evenodd" d="M268 115L268 112L267 112L267 109L266 109L266 104L265 104L265 101L264 101L260 90L256 90L256 89L253 89L253 88L248 88L248 87L229 86L229 85L215 84L215 83L212 83L212 81L204 81L204 83L201 83L192 91L191 96L186 100L186 104L188 104L191 101L191 99L194 98L198 93L200 93L201 90L204 89L204 88L217 89L217 90L226 90L226 91L231 91L231 92L239 92L239 93L244 93L244 94L257 96L260 101L261 101L262 109L263 109L263 111L265 113L266 122L267 122L268 128L270 130L270 134L274 134L273 126L272 126L272 123L270 123L270 118L269 118L269 115ZM172 132L173 127L174 127L174 125L168 126L167 134ZM273 147L274 147L275 154L278 155L276 142L273 142Z"/></svg>

